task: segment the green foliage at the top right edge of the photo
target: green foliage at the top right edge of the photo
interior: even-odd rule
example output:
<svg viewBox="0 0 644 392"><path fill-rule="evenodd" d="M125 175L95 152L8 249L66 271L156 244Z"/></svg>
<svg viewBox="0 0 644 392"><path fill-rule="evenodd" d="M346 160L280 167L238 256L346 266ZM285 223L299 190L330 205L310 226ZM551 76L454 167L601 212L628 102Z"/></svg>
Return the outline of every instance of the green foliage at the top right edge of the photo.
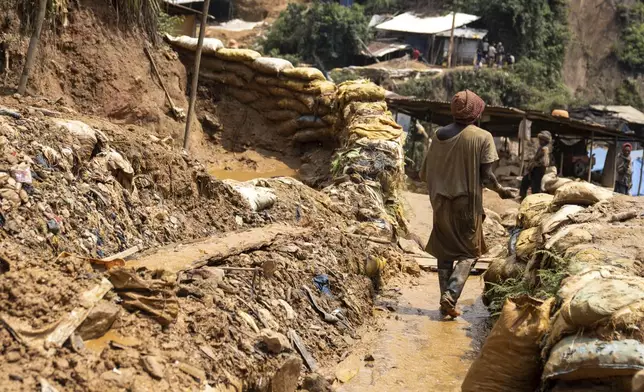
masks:
<svg viewBox="0 0 644 392"><path fill-rule="evenodd" d="M624 28L617 45L620 62L636 72L644 71L644 3L621 6L620 15Z"/></svg>

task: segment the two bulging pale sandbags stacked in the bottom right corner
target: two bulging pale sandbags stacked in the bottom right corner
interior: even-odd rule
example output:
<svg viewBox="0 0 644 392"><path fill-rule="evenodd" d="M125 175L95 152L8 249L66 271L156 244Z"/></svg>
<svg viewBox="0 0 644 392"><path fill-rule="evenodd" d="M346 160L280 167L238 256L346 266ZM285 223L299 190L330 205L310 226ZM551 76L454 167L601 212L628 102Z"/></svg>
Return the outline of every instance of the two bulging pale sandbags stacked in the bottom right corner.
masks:
<svg viewBox="0 0 644 392"><path fill-rule="evenodd" d="M644 369L644 278L596 267L564 281L542 378L598 380Z"/></svg>

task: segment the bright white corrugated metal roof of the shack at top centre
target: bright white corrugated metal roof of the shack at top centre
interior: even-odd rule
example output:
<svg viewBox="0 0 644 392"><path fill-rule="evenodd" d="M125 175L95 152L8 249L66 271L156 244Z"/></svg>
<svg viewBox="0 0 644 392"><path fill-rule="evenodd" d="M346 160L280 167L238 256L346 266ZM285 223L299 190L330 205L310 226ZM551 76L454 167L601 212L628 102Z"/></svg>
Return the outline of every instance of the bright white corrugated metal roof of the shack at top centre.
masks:
<svg viewBox="0 0 644 392"><path fill-rule="evenodd" d="M417 16L411 12L405 12L376 26L378 30L401 31L417 34L436 34L452 28L453 13L444 16ZM456 13L455 27L461 27L472 23L481 17L476 15Z"/></svg>

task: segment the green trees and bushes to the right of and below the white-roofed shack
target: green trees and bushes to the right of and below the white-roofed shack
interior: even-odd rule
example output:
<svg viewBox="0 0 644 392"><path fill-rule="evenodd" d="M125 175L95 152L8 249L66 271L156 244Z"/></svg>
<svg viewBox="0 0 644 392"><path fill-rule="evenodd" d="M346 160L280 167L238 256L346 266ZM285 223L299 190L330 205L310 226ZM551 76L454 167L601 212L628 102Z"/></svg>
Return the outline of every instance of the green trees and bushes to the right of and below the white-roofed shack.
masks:
<svg viewBox="0 0 644 392"><path fill-rule="evenodd" d="M564 0L452 0L451 8L480 15L489 41L503 42L517 64L410 81L399 86L400 94L447 100L470 89L492 105L544 111L567 106L571 97L561 77L568 42Z"/></svg>

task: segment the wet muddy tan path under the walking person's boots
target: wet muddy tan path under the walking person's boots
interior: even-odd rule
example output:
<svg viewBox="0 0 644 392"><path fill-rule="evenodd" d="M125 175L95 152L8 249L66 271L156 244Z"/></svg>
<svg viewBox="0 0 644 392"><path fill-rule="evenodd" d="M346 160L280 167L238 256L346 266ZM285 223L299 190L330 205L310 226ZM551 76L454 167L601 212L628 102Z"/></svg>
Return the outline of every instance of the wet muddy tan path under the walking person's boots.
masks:
<svg viewBox="0 0 644 392"><path fill-rule="evenodd" d="M428 197L408 193L405 198L412 231L426 241ZM350 378L339 391L460 391L487 330L481 278L468 280L460 301L463 317L456 321L440 319L436 274L423 273L417 283L383 293L379 328L367 333L336 370L336 375ZM365 360L370 355L373 361Z"/></svg>

